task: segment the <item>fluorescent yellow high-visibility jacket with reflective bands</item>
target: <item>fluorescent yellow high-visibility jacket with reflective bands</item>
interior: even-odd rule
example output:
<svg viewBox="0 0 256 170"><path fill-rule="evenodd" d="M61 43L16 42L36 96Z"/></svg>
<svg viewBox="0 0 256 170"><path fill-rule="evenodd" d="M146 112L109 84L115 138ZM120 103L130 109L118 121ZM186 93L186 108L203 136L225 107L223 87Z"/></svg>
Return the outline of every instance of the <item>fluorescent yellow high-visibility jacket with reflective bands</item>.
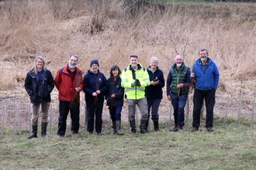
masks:
<svg viewBox="0 0 256 170"><path fill-rule="evenodd" d="M145 97L145 87L150 85L147 70L138 63L138 69L135 71L129 65L121 75L121 86L125 88L126 98L131 100L139 100ZM140 80L140 87L132 87L135 80Z"/></svg>

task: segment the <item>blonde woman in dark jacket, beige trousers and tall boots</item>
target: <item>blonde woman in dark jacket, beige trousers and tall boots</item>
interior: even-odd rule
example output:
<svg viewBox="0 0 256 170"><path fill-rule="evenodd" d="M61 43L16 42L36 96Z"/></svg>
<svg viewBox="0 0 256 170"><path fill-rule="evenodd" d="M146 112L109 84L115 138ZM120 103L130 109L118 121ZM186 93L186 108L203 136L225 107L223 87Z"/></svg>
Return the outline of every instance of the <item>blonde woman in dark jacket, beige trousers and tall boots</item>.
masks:
<svg viewBox="0 0 256 170"><path fill-rule="evenodd" d="M47 118L50 105L50 93L54 89L54 77L47 70L43 56L36 56L35 67L26 74L25 89L33 104L32 134L29 138L37 138L37 125L40 106L42 108L42 132L43 138L47 134Z"/></svg>

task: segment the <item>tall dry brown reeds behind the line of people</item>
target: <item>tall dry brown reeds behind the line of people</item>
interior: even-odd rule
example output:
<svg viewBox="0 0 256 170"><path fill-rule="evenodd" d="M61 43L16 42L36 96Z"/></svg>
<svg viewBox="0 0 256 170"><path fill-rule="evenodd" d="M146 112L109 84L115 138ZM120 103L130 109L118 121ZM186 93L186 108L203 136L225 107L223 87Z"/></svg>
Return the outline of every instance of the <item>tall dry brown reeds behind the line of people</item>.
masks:
<svg viewBox="0 0 256 170"><path fill-rule="evenodd" d="M166 79L177 53L192 67L199 49L206 48L219 67L220 80L225 80L217 94L239 96L243 90L254 96L254 4L169 5L164 12L144 8L133 16L118 0L98 5L92 0L11 2L2 2L0 9L1 89L23 88L26 73L39 55L45 56L54 76L75 53L83 75L91 60L99 59L106 77L114 64L121 69L128 66L130 54L137 54L146 68L150 57L157 56ZM253 81L241 85L227 80ZM13 93L20 92L0 91L0 97ZM29 103L23 90L21 96ZM57 91L52 98L57 106ZM163 104L169 104L165 97Z"/></svg>

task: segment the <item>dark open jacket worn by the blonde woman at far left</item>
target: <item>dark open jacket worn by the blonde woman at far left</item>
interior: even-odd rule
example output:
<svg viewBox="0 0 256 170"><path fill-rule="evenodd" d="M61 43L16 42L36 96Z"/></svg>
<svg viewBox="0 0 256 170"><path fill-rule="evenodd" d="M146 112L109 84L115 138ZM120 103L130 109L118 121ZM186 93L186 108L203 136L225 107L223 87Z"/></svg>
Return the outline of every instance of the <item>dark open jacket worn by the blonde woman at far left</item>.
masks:
<svg viewBox="0 0 256 170"><path fill-rule="evenodd" d="M25 80L25 89L30 96L31 104L39 104L39 83L36 75L33 73L33 70L30 70L26 74ZM50 70L43 70L42 73L42 103L50 102L50 92L54 89L54 77L50 73Z"/></svg>

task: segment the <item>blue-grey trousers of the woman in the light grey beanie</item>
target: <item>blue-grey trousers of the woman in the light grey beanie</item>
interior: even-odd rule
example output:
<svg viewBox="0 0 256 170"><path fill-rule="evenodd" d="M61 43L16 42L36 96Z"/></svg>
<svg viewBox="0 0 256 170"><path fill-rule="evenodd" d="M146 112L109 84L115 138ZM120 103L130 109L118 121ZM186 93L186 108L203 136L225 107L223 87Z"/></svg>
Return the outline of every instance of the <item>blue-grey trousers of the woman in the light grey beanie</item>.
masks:
<svg viewBox="0 0 256 170"><path fill-rule="evenodd" d="M160 105L161 99L152 99L152 98L147 98L147 109L148 109L148 117L147 121L150 118L150 108L151 109L151 119L152 121L158 121L159 120L159 114L158 114L158 108Z"/></svg>

